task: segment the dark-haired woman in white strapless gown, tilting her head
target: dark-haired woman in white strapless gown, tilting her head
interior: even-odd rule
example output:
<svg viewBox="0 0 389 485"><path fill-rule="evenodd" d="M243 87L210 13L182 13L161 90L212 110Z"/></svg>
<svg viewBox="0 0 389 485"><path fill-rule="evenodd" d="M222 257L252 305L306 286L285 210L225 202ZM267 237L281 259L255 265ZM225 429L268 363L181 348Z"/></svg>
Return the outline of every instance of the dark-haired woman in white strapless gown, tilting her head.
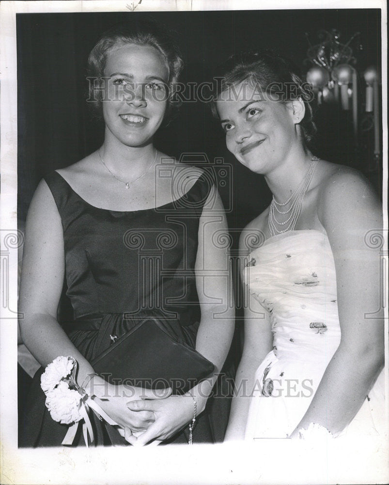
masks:
<svg viewBox="0 0 389 485"><path fill-rule="evenodd" d="M235 59L213 107L228 149L273 193L240 241L248 305L226 440L385 429L380 203L357 171L312 155L311 98L263 52Z"/></svg>

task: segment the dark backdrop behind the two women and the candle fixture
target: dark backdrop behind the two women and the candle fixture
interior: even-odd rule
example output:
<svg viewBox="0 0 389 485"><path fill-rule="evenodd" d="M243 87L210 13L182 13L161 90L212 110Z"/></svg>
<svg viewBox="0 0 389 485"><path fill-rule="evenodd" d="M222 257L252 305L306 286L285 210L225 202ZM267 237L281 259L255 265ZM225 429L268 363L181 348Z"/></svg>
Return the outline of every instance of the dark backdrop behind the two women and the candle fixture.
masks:
<svg viewBox="0 0 389 485"><path fill-rule="evenodd" d="M103 127L92 121L85 102L86 61L102 32L134 15L148 14L17 15L19 221L25 220L32 194L44 174L77 162L102 143ZM360 32L363 49L354 50L359 73L369 65L380 67L379 10L155 12L152 16L176 32L186 61L184 82L210 81L215 66L231 54L257 48L280 51L304 74L310 67L304 65L309 47L305 32L311 43L317 44L320 29L338 29L342 43ZM359 87L364 94L363 81ZM361 135L356 151L350 114L322 106L316 122L319 136L315 154L355 166L380 191L382 168L373 158L373 132ZM157 133L156 146L177 158L183 153L205 153L210 163L216 158L231 165L228 180L224 178L227 183L219 178L218 188L228 209L236 248L239 231L265 209L270 193L261 176L235 162L227 151L223 132L209 106L184 103L169 127ZM237 315L241 315L239 308ZM232 347L235 359L239 349L237 339Z"/></svg>

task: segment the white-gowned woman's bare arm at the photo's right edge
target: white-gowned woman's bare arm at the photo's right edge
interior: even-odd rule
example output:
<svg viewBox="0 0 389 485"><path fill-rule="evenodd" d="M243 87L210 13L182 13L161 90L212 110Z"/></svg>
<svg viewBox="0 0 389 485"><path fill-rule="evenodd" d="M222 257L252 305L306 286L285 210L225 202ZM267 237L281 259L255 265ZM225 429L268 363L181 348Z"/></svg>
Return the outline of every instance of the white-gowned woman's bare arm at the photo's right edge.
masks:
<svg viewBox="0 0 389 485"><path fill-rule="evenodd" d="M379 307L379 254L368 247L368 231L381 231L379 202L354 171L326 184L318 206L335 260L341 342L305 416L291 437L311 422L342 431L357 414L384 364L382 312Z"/></svg>

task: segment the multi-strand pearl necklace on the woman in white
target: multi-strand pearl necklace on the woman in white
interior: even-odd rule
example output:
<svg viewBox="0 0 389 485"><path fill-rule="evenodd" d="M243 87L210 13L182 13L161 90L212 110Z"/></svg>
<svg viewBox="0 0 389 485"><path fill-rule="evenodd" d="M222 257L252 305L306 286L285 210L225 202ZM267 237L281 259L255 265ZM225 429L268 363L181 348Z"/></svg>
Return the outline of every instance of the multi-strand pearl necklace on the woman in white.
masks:
<svg viewBox="0 0 389 485"><path fill-rule="evenodd" d="M273 195L273 199L271 201L270 208L269 208L269 217L268 217L271 236L276 236L277 234L281 234L282 232L294 230L298 216L300 215L300 212L301 212L301 205L303 202L304 195L308 190L308 187L313 178L313 174L315 172L316 165L319 162L319 160L320 159L318 159L317 157L312 157L310 166L308 167L308 170L304 175L304 178L301 180L300 185L296 187L296 190L289 197L288 200L280 203L276 201ZM287 204L289 204L289 202L292 199L293 201L290 205L290 208L288 210L282 210L282 208L284 208ZM282 215L287 215L287 214L290 214L290 215L285 221L280 222L276 219L275 212L278 212L279 214L282 214ZM277 226L282 227L282 229L279 230Z"/></svg>

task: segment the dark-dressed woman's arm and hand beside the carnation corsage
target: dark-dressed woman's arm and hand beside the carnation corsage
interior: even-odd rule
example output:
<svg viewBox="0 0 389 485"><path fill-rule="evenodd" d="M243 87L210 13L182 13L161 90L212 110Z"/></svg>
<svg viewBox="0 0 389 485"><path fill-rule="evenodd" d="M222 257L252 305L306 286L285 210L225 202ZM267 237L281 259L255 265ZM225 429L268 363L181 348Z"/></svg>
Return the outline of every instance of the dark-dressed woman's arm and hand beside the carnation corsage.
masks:
<svg viewBox="0 0 389 485"><path fill-rule="evenodd" d="M45 181L40 182L32 198L26 222L22 275L19 295L20 332L25 345L42 366L58 356L73 356L78 362L78 384L81 385L93 367L77 350L57 322L57 308L64 276L64 244L61 217ZM126 403L143 395L159 397L139 388L114 388L94 376L93 387L101 407L124 427L146 429L151 413L131 413ZM121 392L118 392L120 390ZM165 394L166 396L166 394Z"/></svg>

